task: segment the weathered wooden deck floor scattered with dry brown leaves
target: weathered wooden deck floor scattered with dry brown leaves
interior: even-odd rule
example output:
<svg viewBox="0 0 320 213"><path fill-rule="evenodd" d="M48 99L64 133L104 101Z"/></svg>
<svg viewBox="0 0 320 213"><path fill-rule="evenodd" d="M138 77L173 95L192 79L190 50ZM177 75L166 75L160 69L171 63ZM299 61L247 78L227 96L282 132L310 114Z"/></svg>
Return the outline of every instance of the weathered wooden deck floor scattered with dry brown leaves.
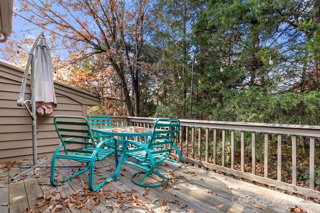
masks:
<svg viewBox="0 0 320 213"><path fill-rule="evenodd" d="M111 160L97 165L96 180L108 173L105 168L113 164ZM66 164L70 162L61 162ZM97 192L86 189L86 174L52 187L50 168L42 167L50 161L15 181L11 178L23 171L23 164L10 171L7 165L0 164L0 213L289 213L295 206L307 213L320 210L320 204L183 164L160 166L170 184L145 189L131 183L135 168L123 163L118 181ZM69 170L58 173L66 175Z"/></svg>

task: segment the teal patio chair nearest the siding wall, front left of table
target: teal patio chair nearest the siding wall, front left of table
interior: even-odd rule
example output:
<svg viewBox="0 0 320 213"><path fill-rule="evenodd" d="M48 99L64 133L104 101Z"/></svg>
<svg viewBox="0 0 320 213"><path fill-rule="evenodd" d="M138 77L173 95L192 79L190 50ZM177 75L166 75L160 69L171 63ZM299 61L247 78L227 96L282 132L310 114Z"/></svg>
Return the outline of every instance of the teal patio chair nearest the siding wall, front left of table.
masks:
<svg viewBox="0 0 320 213"><path fill-rule="evenodd" d="M117 146L114 146L114 144L116 144L115 138L96 142L92 136L89 122L84 117L55 116L53 123L61 143L57 146L51 158L51 185L57 186L59 183L68 181L89 170L88 189L96 191L104 185L107 180L114 177L113 173L93 187L94 162L101 161L113 154L115 167L118 164ZM60 152L60 150L62 152ZM68 159L85 163L85 167L70 176L63 177L62 181L56 183L54 180L56 159Z"/></svg>

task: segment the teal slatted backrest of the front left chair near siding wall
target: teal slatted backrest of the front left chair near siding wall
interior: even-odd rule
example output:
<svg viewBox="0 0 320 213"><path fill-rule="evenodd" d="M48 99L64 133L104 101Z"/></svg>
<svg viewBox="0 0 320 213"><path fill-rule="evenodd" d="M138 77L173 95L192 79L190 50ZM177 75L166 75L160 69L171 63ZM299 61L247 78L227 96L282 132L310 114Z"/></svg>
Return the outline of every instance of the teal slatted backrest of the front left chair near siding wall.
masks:
<svg viewBox="0 0 320 213"><path fill-rule="evenodd" d="M79 149L79 146L76 145L84 145L84 148L95 148L96 145L93 143L94 139L86 118L78 116L55 116L53 123L65 154L69 152L86 153L86 151Z"/></svg>

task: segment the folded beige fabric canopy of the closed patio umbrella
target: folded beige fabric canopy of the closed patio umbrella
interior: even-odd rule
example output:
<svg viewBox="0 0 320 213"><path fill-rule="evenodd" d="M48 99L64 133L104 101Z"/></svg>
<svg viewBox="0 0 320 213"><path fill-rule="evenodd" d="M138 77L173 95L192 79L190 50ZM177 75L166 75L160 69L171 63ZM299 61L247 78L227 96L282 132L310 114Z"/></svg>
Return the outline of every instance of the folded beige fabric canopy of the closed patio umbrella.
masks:
<svg viewBox="0 0 320 213"><path fill-rule="evenodd" d="M35 58L35 109L40 115L49 114L56 107L52 79L52 62L50 49L41 37L34 51Z"/></svg>

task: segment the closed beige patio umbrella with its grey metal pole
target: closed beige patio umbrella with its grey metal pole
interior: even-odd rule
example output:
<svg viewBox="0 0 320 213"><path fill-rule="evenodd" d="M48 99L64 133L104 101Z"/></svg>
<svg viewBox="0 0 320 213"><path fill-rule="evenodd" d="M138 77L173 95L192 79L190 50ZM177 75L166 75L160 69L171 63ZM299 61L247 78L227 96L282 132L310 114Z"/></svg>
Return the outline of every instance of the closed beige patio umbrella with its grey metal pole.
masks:
<svg viewBox="0 0 320 213"><path fill-rule="evenodd" d="M31 70L31 100L24 100L29 69ZM31 110L27 102L30 102ZM56 107L50 50L42 32L37 36L30 50L29 58L22 78L20 96L16 104L18 106L24 106L32 119L33 165L36 165L36 112L38 112L40 115L49 114Z"/></svg>

